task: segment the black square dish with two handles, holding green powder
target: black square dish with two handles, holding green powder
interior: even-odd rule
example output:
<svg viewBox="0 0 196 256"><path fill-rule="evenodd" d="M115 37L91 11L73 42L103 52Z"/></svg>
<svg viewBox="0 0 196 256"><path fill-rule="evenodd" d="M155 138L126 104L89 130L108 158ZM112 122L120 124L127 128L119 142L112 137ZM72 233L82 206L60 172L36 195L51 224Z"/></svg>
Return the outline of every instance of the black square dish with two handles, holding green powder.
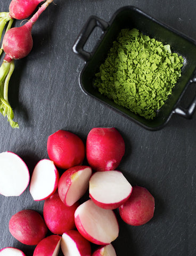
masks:
<svg viewBox="0 0 196 256"><path fill-rule="evenodd" d="M95 45L93 52L90 53L84 50L84 46L95 27L100 27L103 30L103 33ZM164 106L157 111L156 117L151 120L135 115L131 111L116 105L116 103L100 94L93 86L95 74L99 71L99 67L107 57L107 53L110 50L113 41L115 41L120 30L123 28L137 28L143 34L155 38L164 44L169 44L171 46L171 51L182 55L185 60L182 68L182 76L179 78L173 93L170 95ZM185 118L192 117L196 108L196 97L194 97L187 109L179 106L179 102L187 86L189 86L190 83L196 82L196 42L173 28L153 19L136 7L125 6L119 9L109 22L95 16L90 17L80 31L73 46L73 50L86 61L79 76L79 84L83 92L91 95L91 97L102 103L105 103L107 106L118 111L120 114L123 114L137 124L140 124L149 130L159 130L168 123L171 115L174 113L184 116Z"/></svg>

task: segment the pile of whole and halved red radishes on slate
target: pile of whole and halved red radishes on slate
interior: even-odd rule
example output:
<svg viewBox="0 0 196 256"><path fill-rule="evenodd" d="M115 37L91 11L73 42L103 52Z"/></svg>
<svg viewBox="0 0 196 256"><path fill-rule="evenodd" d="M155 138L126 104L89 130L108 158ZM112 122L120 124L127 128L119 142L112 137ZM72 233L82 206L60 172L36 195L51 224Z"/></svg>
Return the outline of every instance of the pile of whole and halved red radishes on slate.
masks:
<svg viewBox="0 0 196 256"><path fill-rule="evenodd" d="M48 137L47 152L50 159L40 160L31 178L19 156L0 154L0 193L19 196L30 183L32 198L45 200L43 217L34 210L15 213L10 233L23 244L36 245L34 256L57 256L60 248L65 256L116 256L116 214L133 226L144 225L154 214L149 191L132 187L116 170L125 154L123 137L115 128L97 127L85 146L78 135L59 130ZM88 165L83 165L85 156ZM92 243L97 245L93 252ZM25 256L13 247L0 250L1 255Z"/></svg>

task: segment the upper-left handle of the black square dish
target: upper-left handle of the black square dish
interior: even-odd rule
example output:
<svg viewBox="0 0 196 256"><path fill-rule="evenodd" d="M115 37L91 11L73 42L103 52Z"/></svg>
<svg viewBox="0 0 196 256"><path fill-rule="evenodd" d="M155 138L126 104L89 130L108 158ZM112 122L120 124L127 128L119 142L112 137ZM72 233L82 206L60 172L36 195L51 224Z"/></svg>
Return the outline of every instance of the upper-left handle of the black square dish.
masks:
<svg viewBox="0 0 196 256"><path fill-rule="evenodd" d="M84 50L84 45L87 39L92 34L95 27L100 27L103 31L105 31L108 28L108 26L109 26L108 22L94 15L89 17L84 27L81 29L74 46L72 47L72 50L74 51L74 53L78 54L85 61L88 61L91 58L92 53Z"/></svg>

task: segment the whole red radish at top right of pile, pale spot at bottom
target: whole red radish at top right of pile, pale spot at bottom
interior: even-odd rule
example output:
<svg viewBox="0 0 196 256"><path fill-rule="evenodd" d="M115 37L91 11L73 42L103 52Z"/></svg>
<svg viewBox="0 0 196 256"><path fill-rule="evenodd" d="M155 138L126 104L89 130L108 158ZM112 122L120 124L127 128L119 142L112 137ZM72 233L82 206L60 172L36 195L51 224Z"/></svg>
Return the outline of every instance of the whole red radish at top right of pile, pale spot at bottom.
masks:
<svg viewBox="0 0 196 256"><path fill-rule="evenodd" d="M115 128L93 128L88 133L86 157L93 170L115 170L124 154L124 139Z"/></svg>

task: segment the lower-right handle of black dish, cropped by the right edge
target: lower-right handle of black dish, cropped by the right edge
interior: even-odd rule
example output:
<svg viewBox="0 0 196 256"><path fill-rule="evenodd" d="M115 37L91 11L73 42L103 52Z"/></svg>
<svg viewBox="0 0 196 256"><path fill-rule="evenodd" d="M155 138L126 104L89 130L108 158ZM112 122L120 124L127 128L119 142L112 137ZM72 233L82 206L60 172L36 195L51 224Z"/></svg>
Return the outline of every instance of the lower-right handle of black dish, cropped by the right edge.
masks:
<svg viewBox="0 0 196 256"><path fill-rule="evenodd" d="M192 80L190 80L190 83L196 83L196 78L193 78ZM195 110L196 110L196 95L193 98L188 108L183 108L181 106L178 106L173 110L173 113L179 116L183 116L187 119L191 119L193 117Z"/></svg>

